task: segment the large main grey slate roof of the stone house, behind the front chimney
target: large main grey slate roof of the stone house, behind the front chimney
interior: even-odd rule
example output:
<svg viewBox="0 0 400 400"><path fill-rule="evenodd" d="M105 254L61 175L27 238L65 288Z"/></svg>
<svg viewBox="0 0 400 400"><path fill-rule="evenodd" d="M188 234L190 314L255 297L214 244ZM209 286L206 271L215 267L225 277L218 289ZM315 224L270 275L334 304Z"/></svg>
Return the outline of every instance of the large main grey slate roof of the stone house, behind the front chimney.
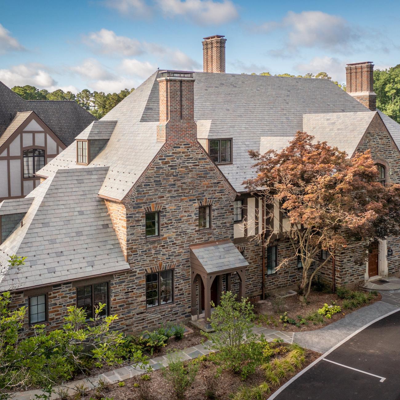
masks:
<svg viewBox="0 0 400 400"><path fill-rule="evenodd" d="M198 138L233 139L233 164L219 168L238 192L244 191L242 182L254 174L248 150L270 148L270 137L292 138L303 130L303 114L371 113L326 79L208 72L193 76ZM158 72L152 74L101 120L118 121L106 146L89 164L110 167L99 192L102 196L122 200L162 147L156 142L158 77ZM72 145L38 174L51 176L58 168L76 167Z"/></svg>

